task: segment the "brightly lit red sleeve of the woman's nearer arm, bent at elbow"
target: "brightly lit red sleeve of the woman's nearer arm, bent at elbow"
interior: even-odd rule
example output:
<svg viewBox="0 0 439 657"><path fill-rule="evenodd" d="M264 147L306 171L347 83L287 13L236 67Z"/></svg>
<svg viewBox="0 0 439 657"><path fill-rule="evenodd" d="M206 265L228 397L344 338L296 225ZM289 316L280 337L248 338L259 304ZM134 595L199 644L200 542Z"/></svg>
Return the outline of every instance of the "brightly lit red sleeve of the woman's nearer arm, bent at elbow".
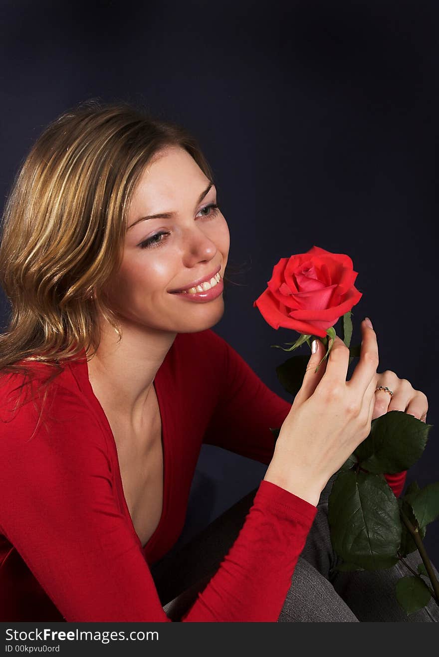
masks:
<svg viewBox="0 0 439 657"><path fill-rule="evenodd" d="M120 511L103 430L59 388L47 431L32 403L0 422L0 529L68 622L170 622ZM53 420L53 421L52 421ZM316 507L263 480L185 622L275 622Z"/></svg>

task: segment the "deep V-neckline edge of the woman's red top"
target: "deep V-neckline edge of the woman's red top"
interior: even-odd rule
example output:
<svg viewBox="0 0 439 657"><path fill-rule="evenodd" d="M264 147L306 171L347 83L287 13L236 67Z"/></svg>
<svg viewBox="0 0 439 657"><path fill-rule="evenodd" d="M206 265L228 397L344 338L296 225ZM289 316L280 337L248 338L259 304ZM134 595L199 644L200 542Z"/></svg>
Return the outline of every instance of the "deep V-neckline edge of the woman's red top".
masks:
<svg viewBox="0 0 439 657"><path fill-rule="evenodd" d="M165 358L166 360L166 358ZM163 361L164 362L164 361ZM120 497L120 501L122 502L122 506L124 507L124 512L127 516L127 519L129 520L129 524L131 526L131 530L133 531L135 537L137 538L137 541L144 553L147 551L150 551L152 545L156 542L158 534L162 530L162 525L164 524L164 518L166 517L166 514L168 512L168 499L169 499L169 466L170 466L170 459L168 458L168 435L166 432L166 427L165 427L165 422L164 418L166 417L166 413L163 412L164 409L164 396L162 397L162 388L160 386L160 369L163 367L163 363L158 369L156 376L154 378L154 381L152 382L152 385L154 386L154 390L156 393L157 397L157 405L158 405L158 411L160 413L160 424L162 427L162 435L161 435L161 441L162 441L162 454L163 454L163 490L162 490L162 514L160 515L160 520L158 521L158 525L156 526L154 532L150 535L149 540L145 545L142 545L141 539L139 538L139 535L137 535L137 532L135 531L135 527L133 524L133 520L131 518L131 514L129 513L129 508L127 505L125 493L124 493L124 486L122 484L122 474L120 473L120 464L119 464L119 457L118 457L118 450L116 447L116 440L114 439L114 434L112 432L112 428L110 426L110 422L108 422L108 418L105 415L105 411L103 407L101 406L101 402L93 392L93 387L91 386L91 382L89 379L89 369L88 369L88 364L87 364L87 359L85 359L85 379L87 381L87 385L89 388L89 394L91 395L92 399L95 401L95 405L97 407L97 410L99 411L103 421L104 425L106 426L106 430L108 432L108 435L111 437L112 440L112 447L113 447L113 454L114 454L114 462L116 463L116 484L118 486L118 493Z"/></svg>

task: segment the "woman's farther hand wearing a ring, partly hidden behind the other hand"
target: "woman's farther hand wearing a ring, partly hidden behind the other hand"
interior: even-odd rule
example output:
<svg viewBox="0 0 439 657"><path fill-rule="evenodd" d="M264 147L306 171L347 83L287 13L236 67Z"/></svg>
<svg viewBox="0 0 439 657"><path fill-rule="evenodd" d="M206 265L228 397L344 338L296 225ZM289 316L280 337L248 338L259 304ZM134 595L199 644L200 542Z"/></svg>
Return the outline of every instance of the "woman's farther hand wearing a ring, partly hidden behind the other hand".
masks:
<svg viewBox="0 0 439 657"><path fill-rule="evenodd" d="M426 422L428 411L427 396L421 390L415 390L406 378L398 378L390 370L377 372L379 386L387 387L393 392L393 396L385 390L375 392L375 405L373 407L372 419L381 417L388 411L405 411L418 420Z"/></svg>

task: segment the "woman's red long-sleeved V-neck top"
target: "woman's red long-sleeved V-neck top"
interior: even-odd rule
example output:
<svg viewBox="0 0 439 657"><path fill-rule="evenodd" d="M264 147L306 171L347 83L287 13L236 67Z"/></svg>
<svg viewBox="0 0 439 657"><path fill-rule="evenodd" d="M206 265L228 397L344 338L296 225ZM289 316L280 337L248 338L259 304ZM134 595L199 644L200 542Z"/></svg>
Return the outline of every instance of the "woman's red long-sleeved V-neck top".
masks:
<svg viewBox="0 0 439 657"><path fill-rule="evenodd" d="M44 363L29 361L35 375ZM15 417L0 379L0 620L170 622L149 566L175 545L202 443L268 464L270 428L290 403L211 329L177 334L154 378L164 500L142 547L127 508L116 443L85 352L49 387L45 424L29 401ZM49 413L47 413L49 408ZM394 475L399 495L405 473ZM390 477L388 478L390 480ZM262 480L235 543L183 622L276 622L316 507Z"/></svg>

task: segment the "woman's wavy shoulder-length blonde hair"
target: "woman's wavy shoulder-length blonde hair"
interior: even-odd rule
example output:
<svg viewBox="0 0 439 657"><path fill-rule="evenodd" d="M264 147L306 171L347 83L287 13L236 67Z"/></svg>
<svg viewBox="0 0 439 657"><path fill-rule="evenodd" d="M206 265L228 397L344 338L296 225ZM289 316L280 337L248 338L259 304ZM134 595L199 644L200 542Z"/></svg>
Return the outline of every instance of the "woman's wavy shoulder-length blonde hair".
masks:
<svg viewBox="0 0 439 657"><path fill-rule="evenodd" d="M49 384L62 361L97 350L99 313L122 337L103 287L122 261L135 185L170 145L185 148L214 182L195 137L126 102L82 103L34 143L3 214L0 284L11 313L0 334L0 378L21 373L22 388L32 374L26 361L36 359L50 366Z"/></svg>

